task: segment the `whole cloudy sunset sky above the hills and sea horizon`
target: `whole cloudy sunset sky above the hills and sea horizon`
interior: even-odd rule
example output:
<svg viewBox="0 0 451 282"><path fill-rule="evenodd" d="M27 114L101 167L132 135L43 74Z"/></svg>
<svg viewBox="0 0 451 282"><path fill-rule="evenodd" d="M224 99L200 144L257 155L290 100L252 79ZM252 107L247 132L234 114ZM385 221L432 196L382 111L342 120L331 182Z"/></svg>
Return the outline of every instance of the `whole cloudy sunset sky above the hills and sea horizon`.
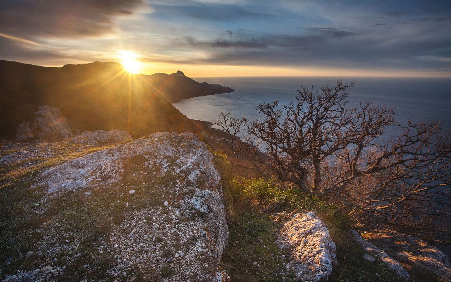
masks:
<svg viewBox="0 0 451 282"><path fill-rule="evenodd" d="M450 0L1 0L0 59L139 73L451 77Z"/></svg>

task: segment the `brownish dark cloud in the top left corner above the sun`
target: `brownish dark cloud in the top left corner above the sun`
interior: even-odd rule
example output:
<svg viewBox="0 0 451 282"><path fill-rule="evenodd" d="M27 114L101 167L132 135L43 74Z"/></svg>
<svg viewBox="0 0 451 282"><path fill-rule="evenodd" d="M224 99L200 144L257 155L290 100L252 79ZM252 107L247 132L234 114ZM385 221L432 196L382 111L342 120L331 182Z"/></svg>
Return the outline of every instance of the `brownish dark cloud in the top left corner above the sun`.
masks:
<svg viewBox="0 0 451 282"><path fill-rule="evenodd" d="M2 0L0 32L14 36L77 37L112 32L117 16L142 0Z"/></svg>

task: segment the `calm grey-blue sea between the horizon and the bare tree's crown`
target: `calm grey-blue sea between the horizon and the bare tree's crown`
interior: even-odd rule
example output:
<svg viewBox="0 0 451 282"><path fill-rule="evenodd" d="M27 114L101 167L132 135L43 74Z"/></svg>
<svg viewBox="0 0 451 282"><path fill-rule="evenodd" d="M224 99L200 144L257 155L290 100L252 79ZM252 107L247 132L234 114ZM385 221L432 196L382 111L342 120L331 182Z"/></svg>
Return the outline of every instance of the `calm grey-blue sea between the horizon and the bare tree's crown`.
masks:
<svg viewBox="0 0 451 282"><path fill-rule="evenodd" d="M232 116L259 117L255 107L261 102L280 100L286 104L294 99L301 85L319 89L326 84L335 86L337 80L355 82L350 89L350 106L360 101L396 108L397 120L405 123L442 120L442 129L451 133L451 79L440 78L367 78L367 77L227 77L195 78L198 82L219 83L235 92L195 97L174 106L191 119L213 121L221 111ZM396 129L388 131L396 135Z"/></svg>

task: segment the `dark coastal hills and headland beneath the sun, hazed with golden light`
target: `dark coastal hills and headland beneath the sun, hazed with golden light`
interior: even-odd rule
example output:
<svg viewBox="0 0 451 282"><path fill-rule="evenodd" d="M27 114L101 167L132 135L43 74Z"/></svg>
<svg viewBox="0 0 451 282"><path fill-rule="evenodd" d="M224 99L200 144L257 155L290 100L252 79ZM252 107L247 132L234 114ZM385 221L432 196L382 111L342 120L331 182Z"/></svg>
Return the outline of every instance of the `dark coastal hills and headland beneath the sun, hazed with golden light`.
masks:
<svg viewBox="0 0 451 282"><path fill-rule="evenodd" d="M181 73L181 72L180 72ZM158 131L192 131L171 102L230 92L183 73L131 75L114 62L50 68L0 60L0 135L14 138L37 106L60 109L73 131L128 130L133 138Z"/></svg>

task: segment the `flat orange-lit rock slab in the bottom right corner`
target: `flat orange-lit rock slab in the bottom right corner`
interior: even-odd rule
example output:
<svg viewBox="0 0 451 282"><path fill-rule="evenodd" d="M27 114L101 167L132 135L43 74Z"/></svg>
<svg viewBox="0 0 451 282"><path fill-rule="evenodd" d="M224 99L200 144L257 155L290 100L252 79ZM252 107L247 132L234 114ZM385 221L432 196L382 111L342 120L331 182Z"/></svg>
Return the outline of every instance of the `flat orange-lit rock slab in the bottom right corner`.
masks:
<svg viewBox="0 0 451 282"><path fill-rule="evenodd" d="M371 230L362 236L397 260L415 268L426 268L451 281L451 264L448 257L425 241L387 230Z"/></svg>

